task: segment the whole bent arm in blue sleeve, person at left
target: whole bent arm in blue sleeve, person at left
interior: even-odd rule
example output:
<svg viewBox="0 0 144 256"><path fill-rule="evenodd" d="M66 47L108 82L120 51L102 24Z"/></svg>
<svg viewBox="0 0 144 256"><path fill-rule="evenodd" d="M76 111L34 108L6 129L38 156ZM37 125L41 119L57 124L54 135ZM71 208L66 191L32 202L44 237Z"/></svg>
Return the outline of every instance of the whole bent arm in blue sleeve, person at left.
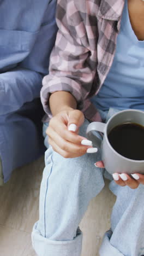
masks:
<svg viewBox="0 0 144 256"><path fill-rule="evenodd" d="M31 53L16 68L0 74L0 114L16 111L25 102L40 96L42 79L48 72L57 33L55 11L56 0L52 0L47 5Z"/></svg>

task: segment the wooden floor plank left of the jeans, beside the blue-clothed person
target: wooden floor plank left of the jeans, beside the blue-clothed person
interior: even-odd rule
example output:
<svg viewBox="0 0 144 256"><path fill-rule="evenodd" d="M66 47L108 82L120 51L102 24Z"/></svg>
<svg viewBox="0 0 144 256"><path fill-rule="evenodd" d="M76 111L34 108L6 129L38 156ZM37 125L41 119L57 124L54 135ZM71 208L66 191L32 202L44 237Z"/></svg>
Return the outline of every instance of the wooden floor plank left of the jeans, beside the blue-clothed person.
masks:
<svg viewBox="0 0 144 256"><path fill-rule="evenodd" d="M43 158L17 169L10 181L0 188L0 224L31 232L39 216L39 188Z"/></svg>

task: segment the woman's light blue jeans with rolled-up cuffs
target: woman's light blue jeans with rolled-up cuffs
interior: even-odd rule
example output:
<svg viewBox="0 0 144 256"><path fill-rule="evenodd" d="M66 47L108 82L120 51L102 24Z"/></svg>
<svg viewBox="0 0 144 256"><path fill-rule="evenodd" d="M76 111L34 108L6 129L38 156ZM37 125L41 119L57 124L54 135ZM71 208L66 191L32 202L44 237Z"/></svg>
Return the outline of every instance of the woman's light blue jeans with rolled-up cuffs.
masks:
<svg viewBox="0 0 144 256"><path fill-rule="evenodd" d="M107 118L115 111L110 109ZM103 114L106 120L107 113ZM88 120L80 129L86 136ZM45 133L47 125L44 125ZM79 223L89 201L104 187L104 169L96 168L100 152L65 159L49 147L40 188L40 215L32 231L33 248L38 256L80 256L82 232ZM111 177L110 177L111 178ZM104 235L100 256L140 256L144 254L144 186L120 187L110 182L117 196L111 215L111 230ZM98 206L99 207L99 206Z"/></svg>

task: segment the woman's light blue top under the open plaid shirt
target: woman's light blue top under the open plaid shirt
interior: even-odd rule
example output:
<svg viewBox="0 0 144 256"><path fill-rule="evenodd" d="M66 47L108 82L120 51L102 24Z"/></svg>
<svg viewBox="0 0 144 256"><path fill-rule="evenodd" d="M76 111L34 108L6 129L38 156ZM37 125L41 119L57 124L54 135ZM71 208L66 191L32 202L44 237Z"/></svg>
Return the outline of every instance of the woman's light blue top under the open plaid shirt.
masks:
<svg viewBox="0 0 144 256"><path fill-rule="evenodd" d="M137 39L125 6L121 30L117 37L116 54L105 82L92 101L101 110L144 110L144 41Z"/></svg>

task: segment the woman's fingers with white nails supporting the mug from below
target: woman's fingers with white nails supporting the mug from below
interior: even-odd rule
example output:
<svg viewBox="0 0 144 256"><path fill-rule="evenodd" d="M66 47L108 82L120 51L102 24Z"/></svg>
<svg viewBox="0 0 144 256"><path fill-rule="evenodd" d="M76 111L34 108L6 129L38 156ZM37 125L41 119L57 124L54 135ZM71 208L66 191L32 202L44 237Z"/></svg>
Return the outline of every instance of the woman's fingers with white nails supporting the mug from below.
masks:
<svg viewBox="0 0 144 256"><path fill-rule="evenodd" d="M96 162L95 166L99 168L104 168L102 161ZM140 173L131 174L133 178L131 178L126 173L122 173L122 174L113 173L112 176L114 181L122 187L127 185L131 189L136 189L137 187L139 187L140 184L144 184L144 174L140 174Z"/></svg>

